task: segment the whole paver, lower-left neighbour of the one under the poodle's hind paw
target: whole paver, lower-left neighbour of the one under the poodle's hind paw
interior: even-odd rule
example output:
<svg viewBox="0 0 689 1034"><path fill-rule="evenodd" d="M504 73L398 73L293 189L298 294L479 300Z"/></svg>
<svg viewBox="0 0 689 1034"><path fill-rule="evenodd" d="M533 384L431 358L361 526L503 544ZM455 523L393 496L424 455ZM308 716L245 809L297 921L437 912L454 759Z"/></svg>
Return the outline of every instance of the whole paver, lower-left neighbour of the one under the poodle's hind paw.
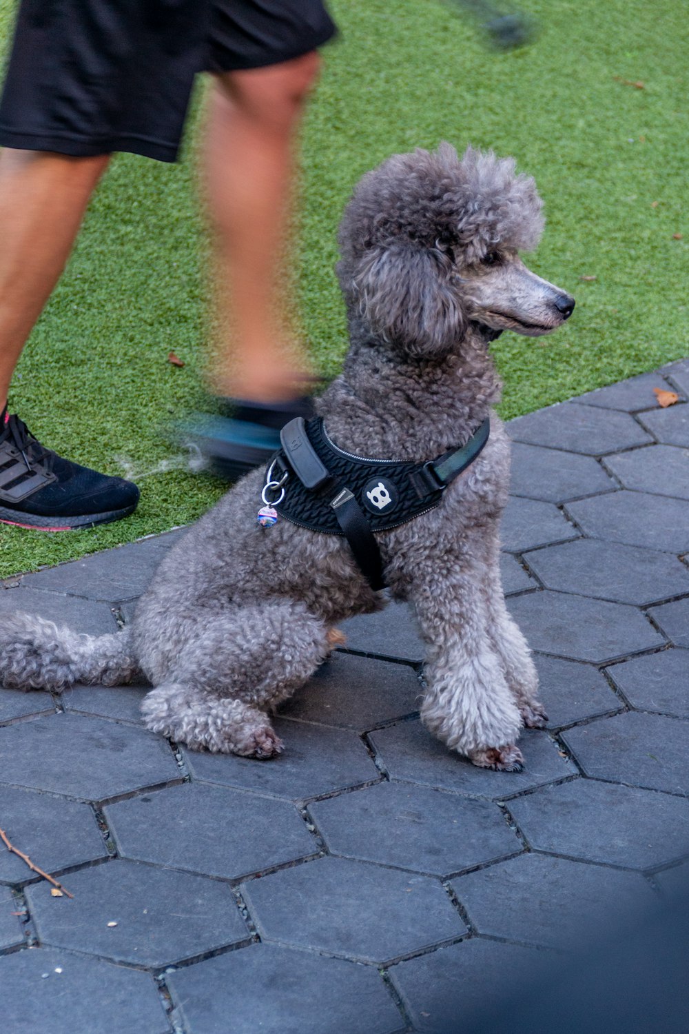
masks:
<svg viewBox="0 0 689 1034"><path fill-rule="evenodd" d="M221 786L187 783L104 811L124 857L207 876L247 876L318 850L293 804Z"/></svg>

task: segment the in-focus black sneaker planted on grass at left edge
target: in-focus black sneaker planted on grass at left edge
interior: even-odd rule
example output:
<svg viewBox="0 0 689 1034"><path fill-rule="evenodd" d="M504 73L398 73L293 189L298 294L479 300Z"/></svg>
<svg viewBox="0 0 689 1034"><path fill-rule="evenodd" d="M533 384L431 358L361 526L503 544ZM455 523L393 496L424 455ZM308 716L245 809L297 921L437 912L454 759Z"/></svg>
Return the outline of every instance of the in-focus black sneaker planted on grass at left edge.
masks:
<svg viewBox="0 0 689 1034"><path fill-rule="evenodd" d="M0 426L0 522L40 531L93 527L128 517L138 488L63 459L17 416Z"/></svg>

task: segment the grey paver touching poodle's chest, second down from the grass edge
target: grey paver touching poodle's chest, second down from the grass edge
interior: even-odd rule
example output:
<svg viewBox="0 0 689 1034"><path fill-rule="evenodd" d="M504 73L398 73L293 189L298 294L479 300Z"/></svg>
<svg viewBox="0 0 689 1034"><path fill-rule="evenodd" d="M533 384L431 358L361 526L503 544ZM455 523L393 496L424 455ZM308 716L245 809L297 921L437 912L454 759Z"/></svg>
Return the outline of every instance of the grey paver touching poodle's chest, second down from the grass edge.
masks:
<svg viewBox="0 0 689 1034"><path fill-rule="evenodd" d="M610 492L617 484L592 456L512 443L510 492L544 503Z"/></svg>

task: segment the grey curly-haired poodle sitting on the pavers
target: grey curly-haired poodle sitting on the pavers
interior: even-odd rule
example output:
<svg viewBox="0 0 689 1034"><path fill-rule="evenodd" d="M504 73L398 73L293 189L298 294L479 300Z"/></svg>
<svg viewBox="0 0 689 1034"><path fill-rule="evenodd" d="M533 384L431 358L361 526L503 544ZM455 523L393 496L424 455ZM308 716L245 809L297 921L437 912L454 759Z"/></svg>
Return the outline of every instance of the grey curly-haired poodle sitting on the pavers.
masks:
<svg viewBox="0 0 689 1034"><path fill-rule="evenodd" d="M421 718L482 767L522 766L523 726L541 727L537 677L505 609L498 522L509 443L488 345L502 330L537 337L573 299L519 257L543 225L533 179L514 161L448 144L396 155L359 182L342 220L338 274L351 344L318 400L330 438L356 456L413 463L491 435L439 506L376 534L392 597L410 601L427 647ZM347 541L289 520L256 522L253 470L169 551L131 626L77 635L0 615L0 681L59 690L143 676L154 732L257 758L280 753L270 712L339 641L337 621L384 605Z"/></svg>

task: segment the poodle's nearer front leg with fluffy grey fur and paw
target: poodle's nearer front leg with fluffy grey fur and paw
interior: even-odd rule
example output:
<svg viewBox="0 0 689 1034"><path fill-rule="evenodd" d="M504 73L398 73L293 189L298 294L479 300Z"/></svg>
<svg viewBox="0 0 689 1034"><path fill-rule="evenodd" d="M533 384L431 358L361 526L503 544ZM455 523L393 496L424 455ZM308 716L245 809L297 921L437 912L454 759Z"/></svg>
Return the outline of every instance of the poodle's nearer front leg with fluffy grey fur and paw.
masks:
<svg viewBox="0 0 689 1034"><path fill-rule="evenodd" d="M488 634L489 609L478 566L461 565L412 598L429 650L421 720L450 749L480 767L522 767L514 746L522 718Z"/></svg>

